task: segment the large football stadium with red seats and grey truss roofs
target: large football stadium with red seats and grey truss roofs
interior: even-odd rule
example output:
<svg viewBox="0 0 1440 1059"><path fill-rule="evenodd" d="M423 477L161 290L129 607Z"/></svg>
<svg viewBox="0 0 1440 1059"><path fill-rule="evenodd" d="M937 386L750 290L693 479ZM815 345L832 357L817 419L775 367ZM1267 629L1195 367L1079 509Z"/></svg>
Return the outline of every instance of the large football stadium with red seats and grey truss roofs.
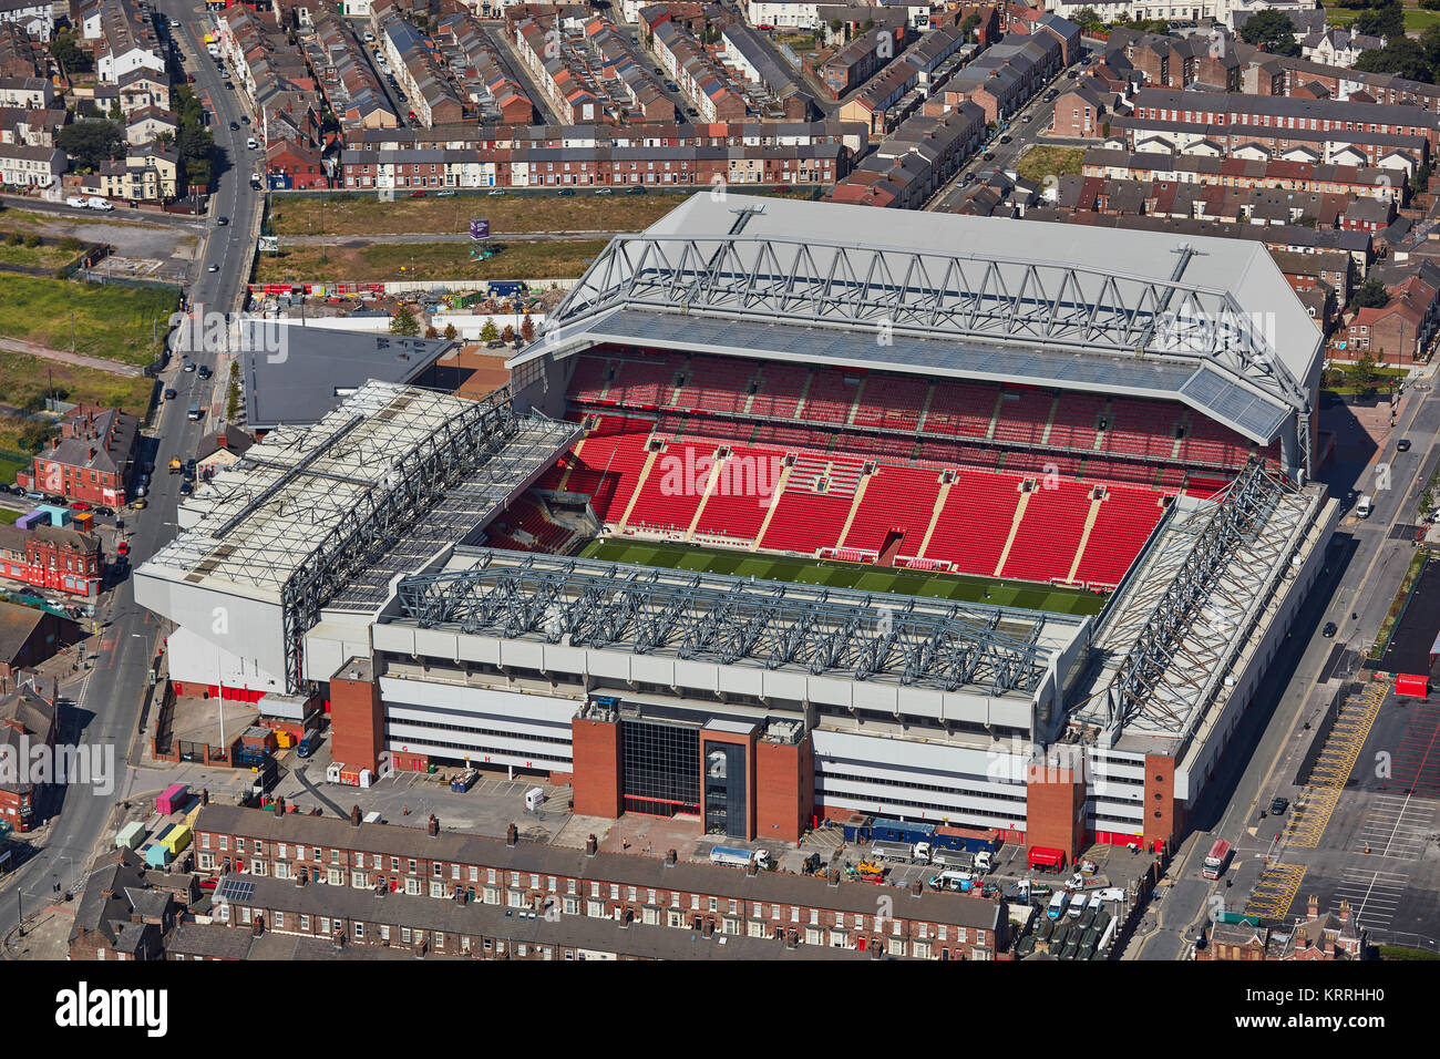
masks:
<svg viewBox="0 0 1440 1059"><path fill-rule="evenodd" d="M177 690L324 705L351 767L1158 846L1338 519L1320 356L1259 245L697 195L490 399L272 431L137 599Z"/></svg>

